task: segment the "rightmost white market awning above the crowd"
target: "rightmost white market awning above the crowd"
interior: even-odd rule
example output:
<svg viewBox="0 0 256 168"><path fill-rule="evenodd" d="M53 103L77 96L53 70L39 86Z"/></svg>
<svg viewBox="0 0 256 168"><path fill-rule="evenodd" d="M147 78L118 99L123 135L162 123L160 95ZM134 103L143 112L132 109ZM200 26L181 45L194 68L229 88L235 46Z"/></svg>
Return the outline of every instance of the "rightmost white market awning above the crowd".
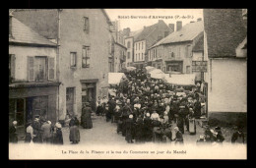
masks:
<svg viewBox="0 0 256 168"><path fill-rule="evenodd" d="M195 74L165 76L166 83L177 85L195 85Z"/></svg>

